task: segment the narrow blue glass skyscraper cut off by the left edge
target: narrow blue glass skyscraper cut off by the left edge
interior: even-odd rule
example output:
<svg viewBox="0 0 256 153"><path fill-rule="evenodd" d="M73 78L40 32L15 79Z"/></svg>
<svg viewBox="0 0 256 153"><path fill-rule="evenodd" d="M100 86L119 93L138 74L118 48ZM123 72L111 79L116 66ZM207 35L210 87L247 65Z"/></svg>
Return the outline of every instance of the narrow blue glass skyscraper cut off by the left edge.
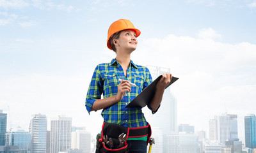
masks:
<svg viewBox="0 0 256 153"><path fill-rule="evenodd" d="M4 135L6 133L7 113L0 110L0 145L5 145Z"/></svg>

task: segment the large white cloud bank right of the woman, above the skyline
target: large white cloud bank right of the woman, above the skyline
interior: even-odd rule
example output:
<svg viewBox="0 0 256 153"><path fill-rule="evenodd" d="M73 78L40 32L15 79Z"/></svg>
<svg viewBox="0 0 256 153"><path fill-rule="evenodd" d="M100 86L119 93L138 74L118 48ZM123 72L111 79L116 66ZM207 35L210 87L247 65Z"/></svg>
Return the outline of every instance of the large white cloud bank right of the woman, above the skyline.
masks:
<svg viewBox="0 0 256 153"><path fill-rule="evenodd" d="M216 38L216 33L205 35L196 39L170 34L163 39L139 40L132 53L135 63L170 68L180 78L171 87L179 122L204 129L209 116L225 113L224 103L228 113L241 115L254 111L248 106L256 99L256 45L220 43L208 39Z"/></svg>

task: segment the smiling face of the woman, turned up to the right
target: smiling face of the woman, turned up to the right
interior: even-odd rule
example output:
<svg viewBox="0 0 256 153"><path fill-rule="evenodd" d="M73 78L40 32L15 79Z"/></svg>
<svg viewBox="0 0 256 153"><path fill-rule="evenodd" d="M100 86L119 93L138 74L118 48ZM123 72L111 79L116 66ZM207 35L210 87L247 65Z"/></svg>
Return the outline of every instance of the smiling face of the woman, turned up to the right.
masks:
<svg viewBox="0 0 256 153"><path fill-rule="evenodd" d="M130 52L136 50L138 40L136 39L136 33L132 30L121 31L118 39L114 39L113 43L115 44L118 50L129 50Z"/></svg>

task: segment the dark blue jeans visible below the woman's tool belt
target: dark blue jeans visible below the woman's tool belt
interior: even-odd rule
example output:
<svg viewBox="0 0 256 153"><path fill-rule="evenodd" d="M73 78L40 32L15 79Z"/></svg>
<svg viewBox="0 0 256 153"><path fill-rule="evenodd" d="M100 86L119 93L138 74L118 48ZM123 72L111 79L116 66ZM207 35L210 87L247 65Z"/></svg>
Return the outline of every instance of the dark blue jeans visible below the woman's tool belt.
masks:
<svg viewBox="0 0 256 153"><path fill-rule="evenodd" d="M147 153L147 141L128 140L129 153Z"/></svg>

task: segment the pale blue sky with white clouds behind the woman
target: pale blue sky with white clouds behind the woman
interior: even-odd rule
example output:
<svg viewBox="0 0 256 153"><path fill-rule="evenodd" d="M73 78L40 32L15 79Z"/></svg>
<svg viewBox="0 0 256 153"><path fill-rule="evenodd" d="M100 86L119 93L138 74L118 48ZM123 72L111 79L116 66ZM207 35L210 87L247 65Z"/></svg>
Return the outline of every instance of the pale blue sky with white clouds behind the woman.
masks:
<svg viewBox="0 0 256 153"><path fill-rule="evenodd" d="M255 0L0 0L0 109L10 106L12 126L27 129L35 113L65 114L93 131L86 123L100 113L89 116L84 99L95 66L115 58L106 38L120 18L141 31L135 63L180 77L171 89L179 123L207 131L226 110L240 124L256 113Z"/></svg>

